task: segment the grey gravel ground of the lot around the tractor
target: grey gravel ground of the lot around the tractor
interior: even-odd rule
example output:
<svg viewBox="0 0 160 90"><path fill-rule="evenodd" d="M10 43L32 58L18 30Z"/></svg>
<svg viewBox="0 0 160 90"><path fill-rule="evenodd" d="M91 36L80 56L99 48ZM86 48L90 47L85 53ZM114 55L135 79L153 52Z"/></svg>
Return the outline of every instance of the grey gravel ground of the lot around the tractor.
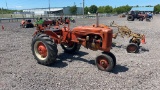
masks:
<svg viewBox="0 0 160 90"><path fill-rule="evenodd" d="M95 19L76 19L78 25L95 24ZM66 54L58 45L57 62L48 67L37 64L31 53L35 28L19 28L19 23L0 23L0 90L160 90L160 16L151 22L127 21L117 16L100 18L126 25L132 31L145 34L146 44L137 54L127 53L129 38L117 37L111 50L117 58L112 72L97 69L94 60L101 51L81 47L74 55ZM113 28L114 32L116 28Z"/></svg>

